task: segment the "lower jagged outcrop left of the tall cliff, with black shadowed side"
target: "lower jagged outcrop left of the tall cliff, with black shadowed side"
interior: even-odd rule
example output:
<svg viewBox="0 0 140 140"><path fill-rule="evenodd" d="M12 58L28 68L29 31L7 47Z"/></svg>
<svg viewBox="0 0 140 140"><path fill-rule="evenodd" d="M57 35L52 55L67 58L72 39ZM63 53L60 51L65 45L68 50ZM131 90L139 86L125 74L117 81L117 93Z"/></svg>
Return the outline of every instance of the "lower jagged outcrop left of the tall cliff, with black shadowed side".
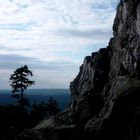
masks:
<svg viewBox="0 0 140 140"><path fill-rule="evenodd" d="M85 125L103 107L101 91L108 81L108 52L108 49L103 48L98 53L86 57L78 76L71 83L72 106L80 125Z"/></svg>

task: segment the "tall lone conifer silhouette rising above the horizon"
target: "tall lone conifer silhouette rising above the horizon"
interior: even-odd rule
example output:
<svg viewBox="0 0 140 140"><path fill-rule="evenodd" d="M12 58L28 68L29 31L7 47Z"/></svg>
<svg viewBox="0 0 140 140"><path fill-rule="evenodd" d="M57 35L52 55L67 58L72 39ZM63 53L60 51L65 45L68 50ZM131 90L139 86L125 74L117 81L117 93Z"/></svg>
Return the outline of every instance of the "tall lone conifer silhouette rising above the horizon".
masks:
<svg viewBox="0 0 140 140"><path fill-rule="evenodd" d="M21 106L28 104L28 99L24 97L24 91L35 84L34 81L28 79L29 76L33 76L33 73L28 69L27 65L24 65L17 68L9 78L12 87L12 97L18 98Z"/></svg>

